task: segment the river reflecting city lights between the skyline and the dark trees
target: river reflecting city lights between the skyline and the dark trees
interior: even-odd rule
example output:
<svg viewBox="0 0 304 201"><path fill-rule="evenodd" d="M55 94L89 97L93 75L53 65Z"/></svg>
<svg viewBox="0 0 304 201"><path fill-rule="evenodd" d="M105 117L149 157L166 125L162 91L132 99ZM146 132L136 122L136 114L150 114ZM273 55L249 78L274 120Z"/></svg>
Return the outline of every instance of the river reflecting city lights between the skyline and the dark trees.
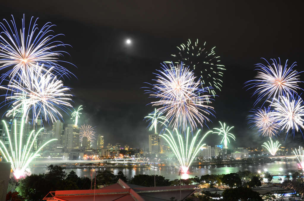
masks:
<svg viewBox="0 0 304 201"><path fill-rule="evenodd" d="M76 172L79 177L89 177L91 178L94 175L95 170L103 170L104 168L97 169L83 169L83 168L74 168L74 169L66 169L66 172L70 171ZM249 170L251 172L261 171L264 172L267 169L268 172L272 175L277 174L288 174L291 170L298 170L298 165L296 162L272 162L272 163L264 163L264 164L238 164L238 165L206 165L206 166L198 166L190 169L189 174L182 174L182 179L187 179L190 177L201 176L206 174L229 174L231 172L238 172ZM133 169L123 169L123 168L107 168L107 170L111 170L114 174L117 174L119 171L122 171L124 175L127 176L128 179L131 179L134 175L138 174L146 174L146 175L162 175L166 179L174 180L179 179L179 169L170 169L170 168L159 168L159 169L150 169L150 168L133 168ZM46 173L46 167L30 167L29 171L32 174Z"/></svg>

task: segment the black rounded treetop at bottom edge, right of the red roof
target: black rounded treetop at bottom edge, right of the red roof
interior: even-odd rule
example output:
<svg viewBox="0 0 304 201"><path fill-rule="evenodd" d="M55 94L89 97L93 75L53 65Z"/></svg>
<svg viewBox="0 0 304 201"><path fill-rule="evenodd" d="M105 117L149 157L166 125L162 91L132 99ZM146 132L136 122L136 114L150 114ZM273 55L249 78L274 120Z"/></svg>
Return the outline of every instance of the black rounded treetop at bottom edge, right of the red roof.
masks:
<svg viewBox="0 0 304 201"><path fill-rule="evenodd" d="M222 193L224 201L263 201L260 194L246 187L230 188L224 190Z"/></svg>

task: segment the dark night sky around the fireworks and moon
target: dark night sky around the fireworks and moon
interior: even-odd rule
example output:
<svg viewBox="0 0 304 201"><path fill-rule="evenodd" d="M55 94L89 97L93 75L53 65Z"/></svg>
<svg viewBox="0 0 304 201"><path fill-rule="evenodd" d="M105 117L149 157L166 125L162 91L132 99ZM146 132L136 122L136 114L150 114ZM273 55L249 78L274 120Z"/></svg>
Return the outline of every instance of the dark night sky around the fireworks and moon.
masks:
<svg viewBox="0 0 304 201"><path fill-rule="evenodd" d="M212 104L216 118L207 124L235 126L233 146L260 146L266 140L250 130L246 120L255 98L243 87L256 75L254 64L262 62L261 57L280 57L282 63L297 62L298 71L304 65L303 2L5 1L1 8L2 19L14 15L19 27L25 14L26 22L39 17L39 26L52 22L55 33L65 35L60 40L72 47L62 60L77 66L65 67L78 79L71 77L64 84L73 88L73 106L84 106L80 123L96 126L105 143L147 148L149 131L143 117L153 107L147 105L142 87L188 38L206 41L208 49L216 46L226 66L222 92ZM304 73L300 78L304 80ZM65 123L71 123L69 118L66 115ZM304 142L301 133L285 137L278 136L283 145ZM209 145L219 142L215 134L206 139Z"/></svg>

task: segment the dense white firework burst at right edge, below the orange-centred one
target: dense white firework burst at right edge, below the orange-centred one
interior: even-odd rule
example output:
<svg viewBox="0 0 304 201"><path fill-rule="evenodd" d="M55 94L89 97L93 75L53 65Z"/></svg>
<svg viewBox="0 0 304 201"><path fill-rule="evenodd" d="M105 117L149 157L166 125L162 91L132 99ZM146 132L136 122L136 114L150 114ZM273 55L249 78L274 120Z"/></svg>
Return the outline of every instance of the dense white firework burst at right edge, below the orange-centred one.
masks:
<svg viewBox="0 0 304 201"><path fill-rule="evenodd" d="M272 112L273 117L278 121L278 127L282 130L286 129L286 133L292 130L292 133L301 131L300 128L304 128L304 105L301 97L289 97L280 96L280 99L274 98L274 100L268 101L271 103L271 107L274 108Z"/></svg>

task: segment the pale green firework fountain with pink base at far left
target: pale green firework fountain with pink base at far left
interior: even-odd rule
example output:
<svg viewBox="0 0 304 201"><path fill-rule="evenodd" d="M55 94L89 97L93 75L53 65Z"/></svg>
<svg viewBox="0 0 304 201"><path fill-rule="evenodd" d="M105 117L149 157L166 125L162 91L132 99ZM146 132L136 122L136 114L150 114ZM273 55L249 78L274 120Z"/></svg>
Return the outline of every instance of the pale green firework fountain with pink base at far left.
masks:
<svg viewBox="0 0 304 201"><path fill-rule="evenodd" d="M27 168L29 163L36 156L39 156L38 153L40 152L40 150L51 141L57 139L51 139L45 142L41 147L39 147L36 152L31 152L34 142L36 141L37 136L40 134L40 131L43 128L40 128L40 130L38 130L36 134L34 133L34 131L30 132L29 137L27 138L26 141L26 145L22 145L24 119L23 118L21 119L19 133L17 133L16 119L14 120L13 122L13 125L15 126L14 136L10 136L6 122L5 121L2 122L5 128L6 135L8 136L9 139L9 150L6 148L5 144L0 140L0 152L2 153L5 160L11 164L11 168L16 179L19 179L24 174L25 169ZM12 141L11 137L14 138L14 141Z"/></svg>

